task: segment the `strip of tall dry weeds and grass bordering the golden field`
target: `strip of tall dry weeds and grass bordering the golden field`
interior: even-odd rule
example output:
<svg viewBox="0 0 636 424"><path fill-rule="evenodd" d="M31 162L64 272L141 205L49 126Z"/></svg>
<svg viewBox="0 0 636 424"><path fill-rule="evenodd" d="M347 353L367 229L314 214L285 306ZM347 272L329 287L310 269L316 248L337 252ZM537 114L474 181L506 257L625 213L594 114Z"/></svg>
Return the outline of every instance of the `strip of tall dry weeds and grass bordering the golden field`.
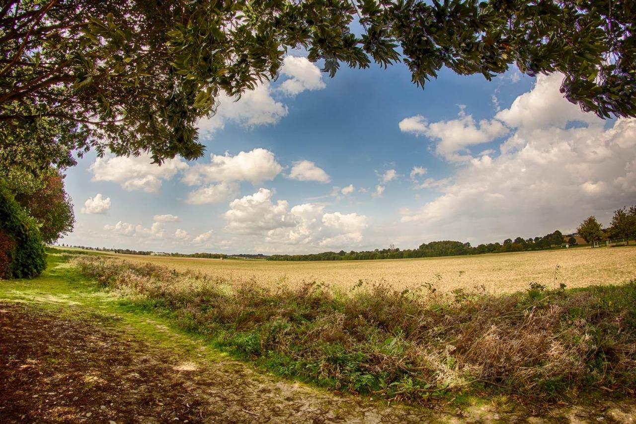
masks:
<svg viewBox="0 0 636 424"><path fill-rule="evenodd" d="M75 261L101 285L226 350L339 390L421 402L471 390L558 400L636 386L636 281L508 295L385 283L344 293Z"/></svg>

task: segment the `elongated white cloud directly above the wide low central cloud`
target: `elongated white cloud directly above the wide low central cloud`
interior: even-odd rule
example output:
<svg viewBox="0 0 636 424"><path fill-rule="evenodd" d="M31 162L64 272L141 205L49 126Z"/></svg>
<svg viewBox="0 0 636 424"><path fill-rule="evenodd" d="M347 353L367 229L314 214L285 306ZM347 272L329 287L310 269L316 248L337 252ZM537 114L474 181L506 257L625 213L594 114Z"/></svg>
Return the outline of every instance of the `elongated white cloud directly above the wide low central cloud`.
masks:
<svg viewBox="0 0 636 424"><path fill-rule="evenodd" d="M209 164L197 163L191 166L183 176L187 185L201 183L220 183L230 181L249 181L254 185L273 180L282 171L274 154L263 148L249 152L239 152L232 156L214 155Z"/></svg>

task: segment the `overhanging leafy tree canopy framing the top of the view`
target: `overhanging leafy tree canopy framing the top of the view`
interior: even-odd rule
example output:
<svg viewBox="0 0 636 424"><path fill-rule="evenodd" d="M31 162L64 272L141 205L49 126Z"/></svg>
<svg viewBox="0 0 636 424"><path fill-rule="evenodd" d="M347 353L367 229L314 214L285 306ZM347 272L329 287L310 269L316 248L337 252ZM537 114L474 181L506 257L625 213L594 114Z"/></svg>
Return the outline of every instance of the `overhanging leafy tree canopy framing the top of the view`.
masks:
<svg viewBox="0 0 636 424"><path fill-rule="evenodd" d="M196 159L219 94L275 78L296 47L331 76L403 62L422 87L443 67L561 72L583 110L635 117L635 21L633 2L606 0L6 0L0 150L39 169L90 148Z"/></svg>

